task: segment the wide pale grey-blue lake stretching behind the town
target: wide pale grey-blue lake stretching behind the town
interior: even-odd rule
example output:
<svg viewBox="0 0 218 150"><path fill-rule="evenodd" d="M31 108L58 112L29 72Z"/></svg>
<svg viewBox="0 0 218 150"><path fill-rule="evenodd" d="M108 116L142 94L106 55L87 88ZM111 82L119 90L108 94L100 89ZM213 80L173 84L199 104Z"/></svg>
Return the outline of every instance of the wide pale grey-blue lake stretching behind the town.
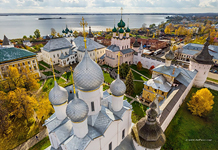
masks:
<svg viewBox="0 0 218 150"><path fill-rule="evenodd" d="M79 22L82 16L87 21L88 25L92 27L92 31L106 30L106 28L114 27L114 19L117 23L120 20L120 15L13 15L13 16L0 16L0 39L6 35L9 39L21 38L24 35L33 35L36 29L40 30L41 35L47 35L51 33L51 28L54 28L57 32L66 27L69 29L82 31ZM150 24L160 24L162 21L166 21L167 15L123 15L123 21L131 28L140 28L143 23L147 26ZM66 19L49 19L38 20L38 18L66 18ZM86 28L88 31L88 27Z"/></svg>

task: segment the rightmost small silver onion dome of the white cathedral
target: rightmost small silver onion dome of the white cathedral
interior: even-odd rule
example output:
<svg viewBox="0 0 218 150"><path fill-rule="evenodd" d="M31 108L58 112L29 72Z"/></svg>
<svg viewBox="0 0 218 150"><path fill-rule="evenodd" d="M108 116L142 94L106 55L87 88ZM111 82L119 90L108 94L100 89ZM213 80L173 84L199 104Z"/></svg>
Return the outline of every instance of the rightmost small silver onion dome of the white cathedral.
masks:
<svg viewBox="0 0 218 150"><path fill-rule="evenodd" d="M111 93L115 96L121 96L126 92L126 85L120 79L119 74L117 75L117 79L111 83L110 90Z"/></svg>

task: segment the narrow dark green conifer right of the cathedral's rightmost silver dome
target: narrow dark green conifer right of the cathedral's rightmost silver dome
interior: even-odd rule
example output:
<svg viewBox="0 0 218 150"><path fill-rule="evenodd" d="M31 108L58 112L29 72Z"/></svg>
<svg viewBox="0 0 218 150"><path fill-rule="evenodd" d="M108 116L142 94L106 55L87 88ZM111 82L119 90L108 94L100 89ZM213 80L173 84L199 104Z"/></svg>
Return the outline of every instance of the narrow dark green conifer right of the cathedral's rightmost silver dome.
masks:
<svg viewBox="0 0 218 150"><path fill-rule="evenodd" d="M134 93L134 82L133 82L133 74L132 74L132 70L129 70L129 73L126 77L126 93L128 95L132 95Z"/></svg>

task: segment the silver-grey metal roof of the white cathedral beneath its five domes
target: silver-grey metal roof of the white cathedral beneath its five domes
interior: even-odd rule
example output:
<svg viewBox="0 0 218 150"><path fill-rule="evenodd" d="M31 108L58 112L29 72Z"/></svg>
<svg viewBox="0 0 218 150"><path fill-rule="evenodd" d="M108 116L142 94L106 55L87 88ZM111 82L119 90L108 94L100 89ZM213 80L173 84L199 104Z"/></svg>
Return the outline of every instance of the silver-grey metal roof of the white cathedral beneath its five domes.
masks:
<svg viewBox="0 0 218 150"><path fill-rule="evenodd" d="M74 135L72 123L69 118L60 121L55 113L45 121L49 133L56 133L60 143L71 150L84 150L87 145L95 138L104 136L105 131L113 121L121 120L123 114L132 108L125 100L120 111L113 111L111 107L111 95L105 91L103 93L104 104L101 105L101 111L97 115L88 116L88 134L84 138L78 138Z"/></svg>

